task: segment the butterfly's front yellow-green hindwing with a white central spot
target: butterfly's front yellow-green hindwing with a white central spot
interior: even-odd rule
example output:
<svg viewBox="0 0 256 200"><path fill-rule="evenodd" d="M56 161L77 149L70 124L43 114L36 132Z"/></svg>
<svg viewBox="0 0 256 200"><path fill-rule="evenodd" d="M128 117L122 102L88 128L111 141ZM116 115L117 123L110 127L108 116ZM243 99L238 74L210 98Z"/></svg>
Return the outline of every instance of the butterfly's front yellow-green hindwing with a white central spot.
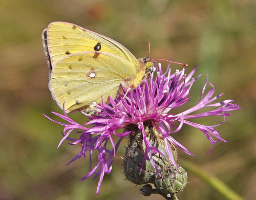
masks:
<svg viewBox="0 0 256 200"><path fill-rule="evenodd" d="M96 57L96 56L97 57ZM63 58L54 65L49 88L54 100L67 113L90 109L92 102L116 98L121 83L133 79L136 71L131 62L109 53L82 52ZM102 97L102 99L101 99Z"/></svg>

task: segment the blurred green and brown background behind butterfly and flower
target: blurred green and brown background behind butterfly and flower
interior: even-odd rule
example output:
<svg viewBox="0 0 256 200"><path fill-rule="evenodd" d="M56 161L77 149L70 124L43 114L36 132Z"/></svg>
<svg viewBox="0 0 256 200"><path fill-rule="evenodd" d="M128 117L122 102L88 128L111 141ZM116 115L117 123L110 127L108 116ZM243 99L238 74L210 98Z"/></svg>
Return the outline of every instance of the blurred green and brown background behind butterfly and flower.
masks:
<svg viewBox="0 0 256 200"><path fill-rule="evenodd" d="M163 199L139 194L139 187L123 180L118 149L113 170L105 175L98 195L98 179L79 181L88 172L89 161L66 164L80 150L63 143L56 149L62 126L42 113L61 113L48 91L48 68L42 50L41 32L52 21L67 21L111 37L136 57L151 57L198 64L202 74L191 90L193 106L206 74L216 94L234 99L241 110L217 130L228 143L219 142L211 153L202 132L184 126L174 135L196 157L179 151L180 161L189 160L216 175L246 199L256 196L256 4L246 1L0 1L0 199ZM163 63L164 65L164 63ZM167 65L167 64L165 64ZM172 65L173 70L182 69ZM79 114L71 117L82 122ZM216 124L220 118L204 119ZM182 199L225 199L188 172L189 183L178 194Z"/></svg>

